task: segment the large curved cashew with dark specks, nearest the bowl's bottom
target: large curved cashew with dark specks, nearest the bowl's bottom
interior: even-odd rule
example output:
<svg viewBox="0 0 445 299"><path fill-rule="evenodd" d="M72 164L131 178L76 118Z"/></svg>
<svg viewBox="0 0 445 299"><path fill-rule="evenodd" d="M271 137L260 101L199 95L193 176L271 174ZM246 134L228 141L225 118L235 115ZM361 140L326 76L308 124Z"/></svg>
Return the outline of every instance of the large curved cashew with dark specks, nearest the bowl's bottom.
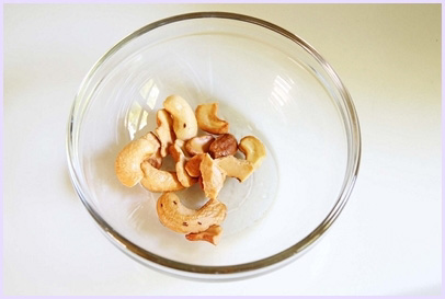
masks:
<svg viewBox="0 0 445 299"><path fill-rule="evenodd" d="M171 192L159 197L156 209L161 223L180 233L205 231L210 226L220 225L227 214L226 205L217 199L209 199L197 210L189 209Z"/></svg>

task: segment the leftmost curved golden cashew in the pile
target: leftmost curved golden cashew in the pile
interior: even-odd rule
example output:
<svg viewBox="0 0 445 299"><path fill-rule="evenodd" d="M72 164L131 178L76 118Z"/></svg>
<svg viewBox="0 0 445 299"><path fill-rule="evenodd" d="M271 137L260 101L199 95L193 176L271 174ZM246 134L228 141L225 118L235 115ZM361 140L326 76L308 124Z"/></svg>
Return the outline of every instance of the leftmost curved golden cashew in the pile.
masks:
<svg viewBox="0 0 445 299"><path fill-rule="evenodd" d="M117 154L114 163L117 179L127 187L133 187L144 177L142 161L151 158L160 147L158 138L150 131L133 140Z"/></svg>

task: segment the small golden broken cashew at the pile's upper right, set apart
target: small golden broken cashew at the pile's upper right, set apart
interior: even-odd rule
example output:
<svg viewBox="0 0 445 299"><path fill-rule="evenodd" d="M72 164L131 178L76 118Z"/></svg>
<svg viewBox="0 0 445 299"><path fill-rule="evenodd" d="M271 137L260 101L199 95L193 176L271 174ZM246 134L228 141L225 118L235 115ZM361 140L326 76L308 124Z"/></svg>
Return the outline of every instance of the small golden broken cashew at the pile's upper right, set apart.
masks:
<svg viewBox="0 0 445 299"><path fill-rule="evenodd" d="M196 107L196 120L202 130L212 134L229 133L230 125L218 118L218 103L202 104Z"/></svg>

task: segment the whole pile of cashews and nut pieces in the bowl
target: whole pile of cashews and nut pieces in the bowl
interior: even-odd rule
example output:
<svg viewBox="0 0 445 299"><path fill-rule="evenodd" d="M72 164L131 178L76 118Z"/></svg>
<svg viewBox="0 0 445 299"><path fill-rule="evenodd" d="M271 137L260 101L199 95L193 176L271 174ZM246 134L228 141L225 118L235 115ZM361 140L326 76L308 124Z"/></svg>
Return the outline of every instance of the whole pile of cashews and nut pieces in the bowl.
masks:
<svg viewBox="0 0 445 299"><path fill-rule="evenodd" d="M115 161L117 179L133 187L162 193L157 202L160 222L190 241L214 245L222 233L227 207L218 200L227 176L244 182L266 156L264 145L253 136L238 143L229 134L228 122L217 116L218 103L202 104L193 112L179 95L170 95L157 112L157 128L126 145ZM209 135L196 136L198 128ZM246 159L236 158L240 150ZM162 160L171 154L175 171L161 170ZM181 204L175 191L199 183L206 204L197 210Z"/></svg>

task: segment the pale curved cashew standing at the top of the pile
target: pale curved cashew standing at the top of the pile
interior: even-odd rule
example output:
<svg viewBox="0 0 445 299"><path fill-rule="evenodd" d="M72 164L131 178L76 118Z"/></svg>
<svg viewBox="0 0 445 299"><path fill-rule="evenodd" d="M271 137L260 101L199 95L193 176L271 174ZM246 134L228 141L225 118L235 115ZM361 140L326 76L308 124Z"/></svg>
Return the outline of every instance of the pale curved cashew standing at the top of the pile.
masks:
<svg viewBox="0 0 445 299"><path fill-rule="evenodd" d="M179 95L170 95L163 102L163 107L173 117L173 130L178 139L186 140L197 134L195 114L189 103Z"/></svg>

